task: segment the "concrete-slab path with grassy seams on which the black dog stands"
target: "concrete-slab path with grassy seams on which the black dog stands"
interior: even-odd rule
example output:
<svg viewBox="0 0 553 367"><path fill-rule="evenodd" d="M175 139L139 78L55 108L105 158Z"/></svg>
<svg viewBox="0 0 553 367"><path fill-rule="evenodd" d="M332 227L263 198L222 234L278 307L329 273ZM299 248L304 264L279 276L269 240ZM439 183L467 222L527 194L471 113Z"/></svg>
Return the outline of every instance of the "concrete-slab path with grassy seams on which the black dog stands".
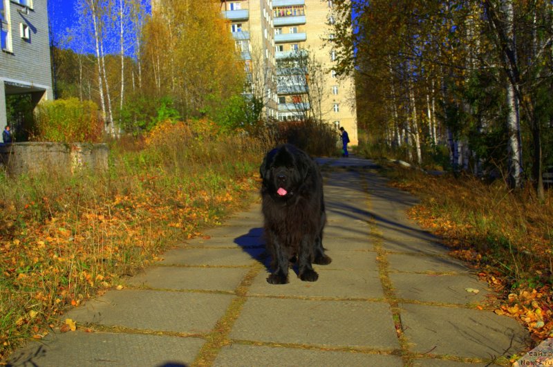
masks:
<svg viewBox="0 0 553 367"><path fill-rule="evenodd" d="M315 265L319 281L265 281L256 204L64 316L93 332L53 333L10 363L485 366L523 350L527 333L514 319L476 309L487 284L406 218L412 196L387 187L371 161L319 163L333 259Z"/></svg>

